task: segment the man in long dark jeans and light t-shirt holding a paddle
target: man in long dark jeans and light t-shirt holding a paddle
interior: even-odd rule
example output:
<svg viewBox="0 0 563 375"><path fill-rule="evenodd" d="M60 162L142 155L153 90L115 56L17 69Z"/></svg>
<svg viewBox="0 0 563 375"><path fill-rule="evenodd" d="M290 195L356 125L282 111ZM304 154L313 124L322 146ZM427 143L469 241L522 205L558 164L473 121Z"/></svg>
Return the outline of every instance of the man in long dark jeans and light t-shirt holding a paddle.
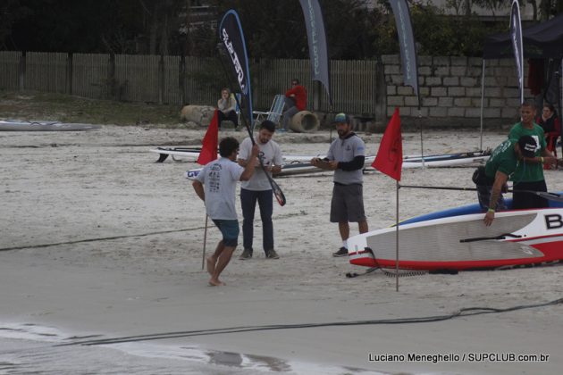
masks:
<svg viewBox="0 0 563 375"><path fill-rule="evenodd" d="M272 121L265 120L260 124L258 135L256 136L256 145L260 148L259 157L265 166L262 170L259 162L256 162L256 171L254 176L248 181L240 184L240 205L242 206L242 243L244 251L239 259L252 258L252 240L254 237L254 212L256 211L256 202L260 207L260 218L262 219L262 245L264 247L265 257L270 259L278 259L280 256L273 249L273 198L272 186L268 181L265 173L270 177L272 173L281 171L280 146L272 140L275 124ZM246 166L249 161L250 151L252 147L252 139L247 137L240 144L239 164Z"/></svg>

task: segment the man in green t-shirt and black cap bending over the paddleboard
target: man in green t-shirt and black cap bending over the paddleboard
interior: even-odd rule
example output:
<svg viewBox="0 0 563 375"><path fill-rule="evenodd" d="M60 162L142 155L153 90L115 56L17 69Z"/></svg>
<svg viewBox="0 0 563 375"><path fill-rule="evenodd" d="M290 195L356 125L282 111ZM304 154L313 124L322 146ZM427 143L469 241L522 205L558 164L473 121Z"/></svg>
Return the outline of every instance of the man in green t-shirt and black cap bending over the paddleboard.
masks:
<svg viewBox="0 0 563 375"><path fill-rule="evenodd" d="M475 171L479 204L487 213L483 219L486 226L494 220L495 210L506 210L502 192L506 192L507 181L517 171L523 157L534 157L537 143L534 137L522 136L518 140L507 139L497 146L484 168Z"/></svg>

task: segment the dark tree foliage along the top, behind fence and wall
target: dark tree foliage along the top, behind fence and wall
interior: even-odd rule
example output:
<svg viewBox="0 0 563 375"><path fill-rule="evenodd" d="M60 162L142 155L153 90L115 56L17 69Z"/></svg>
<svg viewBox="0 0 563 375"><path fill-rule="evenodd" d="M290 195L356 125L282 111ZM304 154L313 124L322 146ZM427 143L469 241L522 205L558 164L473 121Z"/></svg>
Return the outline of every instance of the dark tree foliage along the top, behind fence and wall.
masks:
<svg viewBox="0 0 563 375"><path fill-rule="evenodd" d="M563 0L530 1L538 17L563 12ZM388 0L319 0L331 59L373 59L399 53ZM372 2L370 2L371 4ZM486 36L508 30L508 18L483 22L508 0L450 0L458 15L408 0L419 54L479 56ZM201 12L208 18L201 21ZM0 48L46 52L187 54L214 56L217 24L236 9L250 58L307 58L305 20L298 0L1 0ZM535 8L534 8L535 9ZM211 20L211 21L210 21Z"/></svg>

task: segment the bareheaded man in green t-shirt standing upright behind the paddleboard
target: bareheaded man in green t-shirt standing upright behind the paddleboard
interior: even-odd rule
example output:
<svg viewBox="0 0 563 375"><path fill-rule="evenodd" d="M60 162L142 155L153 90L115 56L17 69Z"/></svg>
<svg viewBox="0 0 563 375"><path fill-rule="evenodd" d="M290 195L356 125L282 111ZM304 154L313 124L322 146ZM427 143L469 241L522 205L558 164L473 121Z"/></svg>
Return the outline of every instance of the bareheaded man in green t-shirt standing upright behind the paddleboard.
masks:
<svg viewBox="0 0 563 375"><path fill-rule="evenodd" d="M553 157L553 154L546 148L545 135L542 127L534 122L535 112L534 102L524 102L520 107L522 121L514 125L508 133L508 138L510 139L520 139L520 137L523 136L534 137L537 144L534 156L525 157L522 162L518 163L517 170L512 176L512 181L514 181L513 209L542 208L549 206L548 201L541 196L517 191L547 191L543 177L543 162L557 162L557 158Z"/></svg>

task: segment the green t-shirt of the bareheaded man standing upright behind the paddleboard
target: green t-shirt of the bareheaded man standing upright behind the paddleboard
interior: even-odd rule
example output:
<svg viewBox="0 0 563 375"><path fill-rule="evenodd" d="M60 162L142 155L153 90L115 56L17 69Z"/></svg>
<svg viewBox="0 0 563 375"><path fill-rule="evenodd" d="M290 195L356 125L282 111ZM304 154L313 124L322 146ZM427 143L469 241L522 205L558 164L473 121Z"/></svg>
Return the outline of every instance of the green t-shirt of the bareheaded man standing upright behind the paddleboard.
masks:
<svg viewBox="0 0 563 375"><path fill-rule="evenodd" d="M535 149L535 156L541 154L542 149L546 147L545 133L540 125L534 123L533 129L526 129L522 126L522 122L518 122L510 129L508 138L520 139L522 136L531 136L535 139L535 143L539 145ZM543 178L543 164L541 162L520 162L518 163L517 170L512 175L512 180L518 182L536 182L542 181Z"/></svg>

